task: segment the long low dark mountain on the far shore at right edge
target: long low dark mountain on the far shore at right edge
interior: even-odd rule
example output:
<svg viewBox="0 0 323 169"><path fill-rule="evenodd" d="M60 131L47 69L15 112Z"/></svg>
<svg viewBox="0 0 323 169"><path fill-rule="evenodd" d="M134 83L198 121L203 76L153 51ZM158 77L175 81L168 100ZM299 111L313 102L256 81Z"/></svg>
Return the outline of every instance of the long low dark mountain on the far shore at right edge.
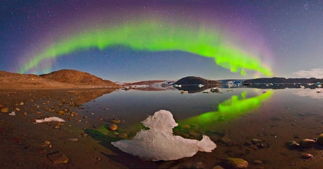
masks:
<svg viewBox="0 0 323 169"><path fill-rule="evenodd" d="M244 81L245 84L251 83L316 83L323 82L323 79L316 78L284 78L284 77L272 77L272 78L257 78Z"/></svg>

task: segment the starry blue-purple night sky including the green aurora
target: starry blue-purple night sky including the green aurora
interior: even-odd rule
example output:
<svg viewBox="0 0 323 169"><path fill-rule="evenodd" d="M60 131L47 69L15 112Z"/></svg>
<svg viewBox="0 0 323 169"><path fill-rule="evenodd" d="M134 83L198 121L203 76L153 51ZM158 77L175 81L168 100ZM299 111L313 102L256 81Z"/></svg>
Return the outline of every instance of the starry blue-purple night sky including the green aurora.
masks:
<svg viewBox="0 0 323 169"><path fill-rule="evenodd" d="M321 1L1 1L0 70L323 78Z"/></svg>

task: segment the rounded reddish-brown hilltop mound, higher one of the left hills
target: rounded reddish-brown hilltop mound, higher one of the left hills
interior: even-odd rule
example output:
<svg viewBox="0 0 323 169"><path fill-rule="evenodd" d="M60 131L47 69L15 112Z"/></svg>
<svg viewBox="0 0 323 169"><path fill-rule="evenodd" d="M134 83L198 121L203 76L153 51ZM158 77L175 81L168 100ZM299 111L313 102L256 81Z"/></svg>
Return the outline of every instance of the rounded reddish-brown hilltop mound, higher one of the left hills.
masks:
<svg viewBox="0 0 323 169"><path fill-rule="evenodd" d="M69 83L73 85L89 85L94 87L121 87L110 80L104 80L86 72L76 70L59 70L49 74L40 75L43 78L55 80L62 83Z"/></svg>

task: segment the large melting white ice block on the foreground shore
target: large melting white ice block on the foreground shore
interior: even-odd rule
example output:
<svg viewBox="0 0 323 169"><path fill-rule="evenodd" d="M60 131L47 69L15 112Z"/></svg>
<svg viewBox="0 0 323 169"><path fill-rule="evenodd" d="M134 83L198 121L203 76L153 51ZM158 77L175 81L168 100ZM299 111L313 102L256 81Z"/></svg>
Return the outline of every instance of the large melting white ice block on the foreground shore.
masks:
<svg viewBox="0 0 323 169"><path fill-rule="evenodd" d="M150 130L139 131L132 140L112 142L123 152L147 161L176 160L191 157L198 151L212 152L216 144L208 136L203 139L185 139L173 135L175 122L171 112L160 110L142 122Z"/></svg>

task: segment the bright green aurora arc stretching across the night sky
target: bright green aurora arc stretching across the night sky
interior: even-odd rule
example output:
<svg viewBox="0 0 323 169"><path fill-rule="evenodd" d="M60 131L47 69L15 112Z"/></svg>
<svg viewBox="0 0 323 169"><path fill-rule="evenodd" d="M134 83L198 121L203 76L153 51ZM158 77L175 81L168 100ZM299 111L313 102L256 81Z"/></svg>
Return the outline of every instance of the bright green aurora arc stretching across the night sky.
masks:
<svg viewBox="0 0 323 169"><path fill-rule="evenodd" d="M227 43L206 28L187 28L165 23L145 22L92 30L57 41L43 52L34 55L19 73L37 69L44 60L63 57L66 54L98 48L104 50L113 46L130 47L140 51L184 51L204 57L213 57L217 65L231 72L253 70L271 76L271 69L260 61Z"/></svg>

